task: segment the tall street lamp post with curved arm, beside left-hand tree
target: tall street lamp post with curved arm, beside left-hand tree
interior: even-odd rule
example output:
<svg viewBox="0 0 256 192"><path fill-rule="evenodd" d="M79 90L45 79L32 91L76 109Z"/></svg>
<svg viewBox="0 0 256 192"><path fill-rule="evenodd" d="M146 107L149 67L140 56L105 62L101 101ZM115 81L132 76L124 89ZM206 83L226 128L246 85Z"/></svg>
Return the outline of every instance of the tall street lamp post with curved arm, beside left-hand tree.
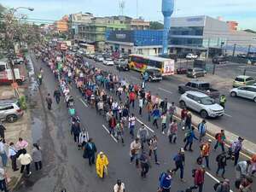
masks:
<svg viewBox="0 0 256 192"><path fill-rule="evenodd" d="M19 90L18 90L18 85L17 85L17 81L16 81L16 77L15 77L15 69L14 69L14 64L13 64L13 56L15 53L13 53L12 49L11 49L11 46L14 45L13 44L13 41L14 41L14 35L15 35L15 27L13 26L14 25L14 20L15 20L15 12L18 10L18 9L27 9L29 11L33 11L34 9L33 8L30 8L30 7L18 7L18 8L15 8L15 9L9 9L9 13L6 15L6 39L7 39L7 42L8 42L8 52L9 52L9 55L8 55L8 61L9 61L9 66L10 66L10 69L11 69L11 72L12 72L12 80L13 80L13 83L12 83L12 86L15 90L15 96L16 97L19 97L20 94L19 94ZM13 47L13 46L12 46Z"/></svg>

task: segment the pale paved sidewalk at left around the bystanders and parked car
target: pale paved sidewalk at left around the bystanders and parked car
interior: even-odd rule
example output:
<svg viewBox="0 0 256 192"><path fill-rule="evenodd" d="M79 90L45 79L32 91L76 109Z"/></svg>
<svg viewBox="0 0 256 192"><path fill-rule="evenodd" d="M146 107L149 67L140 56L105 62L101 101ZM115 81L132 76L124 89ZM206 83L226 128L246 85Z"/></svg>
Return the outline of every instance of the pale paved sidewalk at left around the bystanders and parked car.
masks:
<svg viewBox="0 0 256 192"><path fill-rule="evenodd" d="M13 99L14 96L14 91L12 90L11 86L1 86L1 94L0 94L0 99ZM20 95L25 95L26 93L26 85L23 86L22 88L19 88ZM29 143L29 148L28 153L30 154L31 147L32 147L32 137L31 137L31 115L30 111L26 110L24 115L18 119L15 123L6 123L3 122L3 125L6 128L5 133L5 142L7 146L9 146L9 143L17 143L18 138L22 137ZM7 154L8 154L8 147L7 149ZM2 165L2 163L1 163ZM17 160L17 166L20 168L19 162ZM17 183L20 182L20 178L22 175L20 174L20 171L13 172L12 167L11 167L11 160L8 158L8 166L7 166L7 174L8 177L10 177L10 182L8 183L9 190L12 191L15 189L15 186Z"/></svg>

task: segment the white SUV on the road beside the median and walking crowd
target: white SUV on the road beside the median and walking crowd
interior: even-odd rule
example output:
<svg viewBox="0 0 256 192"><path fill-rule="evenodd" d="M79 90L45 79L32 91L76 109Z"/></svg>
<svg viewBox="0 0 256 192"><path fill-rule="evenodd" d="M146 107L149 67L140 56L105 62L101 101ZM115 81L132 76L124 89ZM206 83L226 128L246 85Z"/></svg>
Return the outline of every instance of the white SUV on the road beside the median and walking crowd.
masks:
<svg viewBox="0 0 256 192"><path fill-rule="evenodd" d="M216 118L224 115L224 108L215 102L210 96L198 91L189 90L179 99L180 106L190 108L200 113L201 118Z"/></svg>

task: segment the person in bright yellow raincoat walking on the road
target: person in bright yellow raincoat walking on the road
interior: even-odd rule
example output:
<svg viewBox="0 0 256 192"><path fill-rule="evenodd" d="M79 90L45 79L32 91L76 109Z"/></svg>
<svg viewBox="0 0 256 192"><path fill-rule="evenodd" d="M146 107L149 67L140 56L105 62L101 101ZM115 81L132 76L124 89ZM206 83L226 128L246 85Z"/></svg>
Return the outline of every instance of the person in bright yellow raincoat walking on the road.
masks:
<svg viewBox="0 0 256 192"><path fill-rule="evenodd" d="M108 174L108 157L103 152L100 152L97 155L96 159L96 173L98 177L103 178L106 174Z"/></svg>

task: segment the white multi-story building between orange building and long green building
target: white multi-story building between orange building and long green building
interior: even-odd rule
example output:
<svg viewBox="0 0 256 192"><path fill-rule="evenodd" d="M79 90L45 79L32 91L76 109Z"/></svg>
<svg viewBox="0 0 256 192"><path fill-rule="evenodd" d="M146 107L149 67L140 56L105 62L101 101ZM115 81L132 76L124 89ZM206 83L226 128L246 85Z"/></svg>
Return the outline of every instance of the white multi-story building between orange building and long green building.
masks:
<svg viewBox="0 0 256 192"><path fill-rule="evenodd" d="M77 13L69 15L69 34L71 38L79 38L79 25L91 22L93 15L91 13Z"/></svg>

